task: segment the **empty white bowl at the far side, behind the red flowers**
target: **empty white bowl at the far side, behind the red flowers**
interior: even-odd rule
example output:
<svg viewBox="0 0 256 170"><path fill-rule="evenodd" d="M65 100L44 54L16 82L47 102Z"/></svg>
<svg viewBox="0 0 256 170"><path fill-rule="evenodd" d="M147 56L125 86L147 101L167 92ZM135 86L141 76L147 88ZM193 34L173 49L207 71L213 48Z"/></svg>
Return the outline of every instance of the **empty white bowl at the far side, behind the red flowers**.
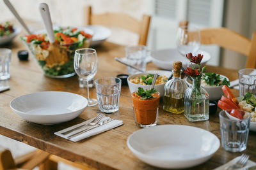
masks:
<svg viewBox="0 0 256 170"><path fill-rule="evenodd" d="M201 53L204 55L202 59L202 66L205 66L205 64L211 59L211 55L205 51L199 50L195 53L198 54ZM156 64L157 67L160 67L161 69L173 69L173 61L180 60L182 62L183 67L186 69L189 65L189 60L186 59L185 56L180 55L177 48L169 48L165 50L157 50L151 52L152 62Z"/></svg>

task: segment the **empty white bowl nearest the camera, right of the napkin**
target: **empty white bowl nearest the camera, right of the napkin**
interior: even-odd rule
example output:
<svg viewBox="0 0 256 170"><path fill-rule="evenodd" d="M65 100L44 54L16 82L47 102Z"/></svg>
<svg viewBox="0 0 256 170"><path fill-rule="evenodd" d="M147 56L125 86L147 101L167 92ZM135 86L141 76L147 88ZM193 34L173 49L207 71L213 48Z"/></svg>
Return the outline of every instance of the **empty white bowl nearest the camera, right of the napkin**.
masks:
<svg viewBox="0 0 256 170"><path fill-rule="evenodd" d="M127 146L151 166L180 169L210 159L220 147L220 140L198 127L157 125L131 134Z"/></svg>

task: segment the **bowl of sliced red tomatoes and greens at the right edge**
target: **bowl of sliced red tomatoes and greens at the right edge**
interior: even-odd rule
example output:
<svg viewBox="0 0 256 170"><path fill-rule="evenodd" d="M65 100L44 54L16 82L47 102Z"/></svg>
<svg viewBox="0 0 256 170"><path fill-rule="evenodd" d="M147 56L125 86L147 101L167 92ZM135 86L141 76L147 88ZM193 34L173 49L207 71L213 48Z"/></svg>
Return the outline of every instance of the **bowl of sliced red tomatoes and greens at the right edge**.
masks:
<svg viewBox="0 0 256 170"><path fill-rule="evenodd" d="M218 107L225 110L227 116L233 120L251 116L250 130L256 131L256 97L250 92L244 97L235 97L226 85L223 85L222 90L225 96L218 101Z"/></svg>

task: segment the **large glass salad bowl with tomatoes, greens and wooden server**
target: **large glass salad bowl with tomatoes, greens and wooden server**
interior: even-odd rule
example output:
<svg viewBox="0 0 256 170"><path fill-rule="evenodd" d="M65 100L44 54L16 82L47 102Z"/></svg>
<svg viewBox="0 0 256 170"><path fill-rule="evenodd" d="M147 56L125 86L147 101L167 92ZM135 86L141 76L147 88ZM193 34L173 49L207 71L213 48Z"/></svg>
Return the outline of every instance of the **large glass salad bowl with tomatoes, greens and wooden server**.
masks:
<svg viewBox="0 0 256 170"><path fill-rule="evenodd" d="M34 55L45 76L67 78L74 76L74 53L79 48L88 48L92 32L83 28L54 29L55 43L49 43L44 32L20 37ZM54 50L52 50L54 49Z"/></svg>

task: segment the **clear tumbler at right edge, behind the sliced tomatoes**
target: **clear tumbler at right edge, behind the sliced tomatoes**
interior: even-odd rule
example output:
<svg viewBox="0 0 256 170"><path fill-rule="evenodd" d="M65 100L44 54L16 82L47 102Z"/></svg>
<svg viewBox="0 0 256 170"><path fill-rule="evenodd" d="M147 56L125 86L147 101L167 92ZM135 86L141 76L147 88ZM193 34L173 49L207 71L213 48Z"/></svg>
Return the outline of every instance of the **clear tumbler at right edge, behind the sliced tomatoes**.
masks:
<svg viewBox="0 0 256 170"><path fill-rule="evenodd" d="M256 95L256 69L240 69L239 74L239 96L246 92Z"/></svg>

